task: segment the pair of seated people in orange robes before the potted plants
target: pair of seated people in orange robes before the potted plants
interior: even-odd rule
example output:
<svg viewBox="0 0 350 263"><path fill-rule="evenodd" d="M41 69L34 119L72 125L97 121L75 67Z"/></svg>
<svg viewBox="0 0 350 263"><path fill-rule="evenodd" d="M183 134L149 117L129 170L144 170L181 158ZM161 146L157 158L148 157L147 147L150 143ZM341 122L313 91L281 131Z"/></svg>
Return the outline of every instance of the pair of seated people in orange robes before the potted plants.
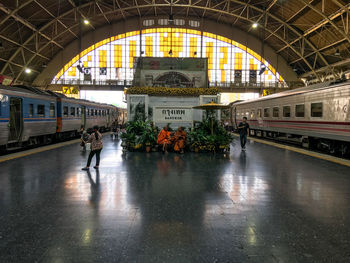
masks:
<svg viewBox="0 0 350 263"><path fill-rule="evenodd" d="M165 126L158 134L157 144L162 146L163 152L168 151L168 147L173 147L175 152L184 153L186 146L186 132L183 127L179 127L175 133Z"/></svg>

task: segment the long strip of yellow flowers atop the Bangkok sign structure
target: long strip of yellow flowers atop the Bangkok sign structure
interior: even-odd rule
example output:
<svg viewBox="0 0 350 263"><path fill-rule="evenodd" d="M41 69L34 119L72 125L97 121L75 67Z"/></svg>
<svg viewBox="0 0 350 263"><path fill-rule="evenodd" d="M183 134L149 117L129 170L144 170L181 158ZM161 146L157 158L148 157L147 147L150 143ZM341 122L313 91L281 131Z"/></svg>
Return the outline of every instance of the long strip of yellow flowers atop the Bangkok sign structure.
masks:
<svg viewBox="0 0 350 263"><path fill-rule="evenodd" d="M126 94L147 94L151 96L199 96L216 95L218 88L168 88L168 87L131 87Z"/></svg>

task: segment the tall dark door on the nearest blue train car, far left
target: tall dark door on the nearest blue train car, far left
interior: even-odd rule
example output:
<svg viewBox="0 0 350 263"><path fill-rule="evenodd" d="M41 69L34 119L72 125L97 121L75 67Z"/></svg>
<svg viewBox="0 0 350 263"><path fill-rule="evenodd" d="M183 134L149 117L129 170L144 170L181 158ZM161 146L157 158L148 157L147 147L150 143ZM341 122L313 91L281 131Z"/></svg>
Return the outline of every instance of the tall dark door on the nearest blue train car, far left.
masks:
<svg viewBox="0 0 350 263"><path fill-rule="evenodd" d="M19 141L23 130L22 99L10 98L9 141Z"/></svg>

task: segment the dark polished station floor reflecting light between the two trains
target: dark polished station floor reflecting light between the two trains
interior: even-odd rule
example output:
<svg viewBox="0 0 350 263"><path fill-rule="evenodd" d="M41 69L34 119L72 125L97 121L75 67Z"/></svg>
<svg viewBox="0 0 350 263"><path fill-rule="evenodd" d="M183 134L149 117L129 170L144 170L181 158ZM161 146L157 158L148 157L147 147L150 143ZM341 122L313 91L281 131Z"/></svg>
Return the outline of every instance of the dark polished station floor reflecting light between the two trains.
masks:
<svg viewBox="0 0 350 263"><path fill-rule="evenodd" d="M99 171L78 144L0 163L0 262L350 262L349 167L104 144Z"/></svg>

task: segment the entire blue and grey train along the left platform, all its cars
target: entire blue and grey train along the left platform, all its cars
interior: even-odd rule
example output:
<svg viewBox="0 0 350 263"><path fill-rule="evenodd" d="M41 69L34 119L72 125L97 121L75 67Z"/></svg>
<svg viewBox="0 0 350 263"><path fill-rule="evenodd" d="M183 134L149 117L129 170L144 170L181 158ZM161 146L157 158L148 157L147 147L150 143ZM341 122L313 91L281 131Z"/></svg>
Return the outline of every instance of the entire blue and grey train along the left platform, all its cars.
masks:
<svg viewBox="0 0 350 263"><path fill-rule="evenodd" d="M0 149L75 137L83 127L110 130L118 108L32 87L0 86Z"/></svg>

